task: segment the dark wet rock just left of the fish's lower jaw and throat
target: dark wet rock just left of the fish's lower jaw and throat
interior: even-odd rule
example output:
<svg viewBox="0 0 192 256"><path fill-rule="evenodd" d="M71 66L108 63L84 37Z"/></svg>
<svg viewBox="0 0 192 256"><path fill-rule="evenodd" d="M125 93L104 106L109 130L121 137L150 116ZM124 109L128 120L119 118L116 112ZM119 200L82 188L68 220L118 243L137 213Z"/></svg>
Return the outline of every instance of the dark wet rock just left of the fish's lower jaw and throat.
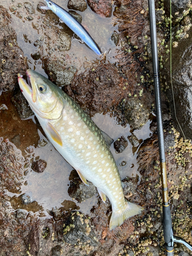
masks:
<svg viewBox="0 0 192 256"><path fill-rule="evenodd" d="M15 108L20 118L26 119L29 116L34 115L26 98L20 90L14 96L11 97L11 101L15 105Z"/></svg>

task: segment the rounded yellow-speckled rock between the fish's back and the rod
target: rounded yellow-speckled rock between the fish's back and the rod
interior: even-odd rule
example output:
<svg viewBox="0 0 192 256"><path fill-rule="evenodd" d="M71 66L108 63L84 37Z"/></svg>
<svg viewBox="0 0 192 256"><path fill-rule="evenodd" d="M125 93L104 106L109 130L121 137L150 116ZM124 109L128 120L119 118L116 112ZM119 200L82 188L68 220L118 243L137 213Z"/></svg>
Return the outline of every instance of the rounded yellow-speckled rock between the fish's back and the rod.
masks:
<svg viewBox="0 0 192 256"><path fill-rule="evenodd" d="M136 98L131 98L127 101L124 111L127 122L134 129L141 129L150 115L150 110L146 109L142 102Z"/></svg>

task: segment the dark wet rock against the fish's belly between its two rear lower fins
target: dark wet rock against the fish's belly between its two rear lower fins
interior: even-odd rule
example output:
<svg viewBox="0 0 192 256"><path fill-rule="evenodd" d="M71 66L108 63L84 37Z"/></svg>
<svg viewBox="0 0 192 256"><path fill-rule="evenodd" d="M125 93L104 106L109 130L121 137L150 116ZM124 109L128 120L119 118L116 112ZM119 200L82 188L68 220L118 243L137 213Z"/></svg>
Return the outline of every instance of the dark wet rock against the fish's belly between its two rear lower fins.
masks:
<svg viewBox="0 0 192 256"><path fill-rule="evenodd" d="M73 178L68 189L69 196L78 202L92 198L97 193L97 189L93 183L88 181L88 184L89 186L86 186L80 178Z"/></svg>

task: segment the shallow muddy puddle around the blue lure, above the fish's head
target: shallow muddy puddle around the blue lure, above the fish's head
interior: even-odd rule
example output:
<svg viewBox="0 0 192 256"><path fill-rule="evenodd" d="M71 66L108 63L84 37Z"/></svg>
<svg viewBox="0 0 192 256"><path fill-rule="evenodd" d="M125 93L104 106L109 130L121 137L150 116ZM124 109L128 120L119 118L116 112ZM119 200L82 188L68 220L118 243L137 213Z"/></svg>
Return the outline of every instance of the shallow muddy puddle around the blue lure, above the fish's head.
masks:
<svg viewBox="0 0 192 256"><path fill-rule="evenodd" d="M45 13L37 8L39 3L46 4L43 0L28 1L35 13L29 14L24 7L26 0L1 1L1 5L7 8L11 13L11 26L17 33L17 44L23 50L24 56L28 59L29 68L36 70L45 75L42 70L42 59L51 56L63 62L66 67L74 66L77 70L84 70L84 67L90 66L90 61L100 60L100 56L96 55L85 44L81 44L78 40L74 40L73 32L63 23L59 22L59 18L51 11ZM56 4L69 11L67 8L68 1L55 0ZM115 6L113 6L113 11ZM82 26L87 29L93 39L97 42L102 52L109 52L107 58L111 63L116 62L115 56L119 48L115 46L111 40L114 31L118 32L118 25L114 26L115 20L112 17L101 17L94 13L90 7L83 11L76 11L82 16ZM31 17L30 20L28 17ZM72 36L71 49L69 51L60 51L57 48L57 39L61 32L66 32ZM76 38L76 37L75 37ZM41 57L35 60L32 55L39 52Z"/></svg>

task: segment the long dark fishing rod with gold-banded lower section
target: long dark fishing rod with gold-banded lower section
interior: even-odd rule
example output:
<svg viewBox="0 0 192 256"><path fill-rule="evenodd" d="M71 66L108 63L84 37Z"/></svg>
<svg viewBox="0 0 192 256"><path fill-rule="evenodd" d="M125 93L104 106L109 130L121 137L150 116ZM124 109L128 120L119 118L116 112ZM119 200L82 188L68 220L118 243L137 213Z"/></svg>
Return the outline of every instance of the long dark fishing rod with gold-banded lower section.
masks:
<svg viewBox="0 0 192 256"><path fill-rule="evenodd" d="M165 159L163 122L162 122L162 111L161 111L159 58L158 58L158 49L157 49L157 30L156 30L154 0L148 0L148 10L150 14L149 16L150 16L150 33L151 33L152 58L153 58L154 91L155 91L157 132L158 132L158 140L159 140L159 156L160 156L161 184L162 184L162 197L163 197L163 205L162 205L163 236L165 241L166 255L172 256L174 255L174 242L184 244L191 251L192 251L192 246L189 243L187 243L184 239L174 236L174 230L172 226L172 216L170 215L170 206L169 206L169 200L168 200L166 159Z"/></svg>

